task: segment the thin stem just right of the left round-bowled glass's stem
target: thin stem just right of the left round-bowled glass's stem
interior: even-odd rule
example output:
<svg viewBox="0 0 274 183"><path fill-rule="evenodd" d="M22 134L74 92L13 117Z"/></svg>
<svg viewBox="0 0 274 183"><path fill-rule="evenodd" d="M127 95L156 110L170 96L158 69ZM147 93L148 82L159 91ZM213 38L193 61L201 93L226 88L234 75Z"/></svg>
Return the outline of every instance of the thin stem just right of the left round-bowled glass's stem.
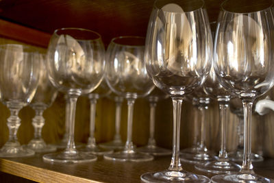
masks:
<svg viewBox="0 0 274 183"><path fill-rule="evenodd" d="M90 136L88 137L88 145L87 147L95 147L95 115L96 115L96 104L97 99L99 99L99 95L96 93L91 93L88 95L90 99Z"/></svg>

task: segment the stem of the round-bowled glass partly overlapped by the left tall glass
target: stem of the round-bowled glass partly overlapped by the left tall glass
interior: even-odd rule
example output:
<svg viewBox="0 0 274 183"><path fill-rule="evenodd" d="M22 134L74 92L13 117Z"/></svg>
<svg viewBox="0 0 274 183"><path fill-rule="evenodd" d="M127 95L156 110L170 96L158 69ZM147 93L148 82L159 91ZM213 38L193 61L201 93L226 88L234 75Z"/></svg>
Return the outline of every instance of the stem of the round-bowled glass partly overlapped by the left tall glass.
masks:
<svg viewBox="0 0 274 183"><path fill-rule="evenodd" d="M135 99L135 97L127 97L127 142L125 143L125 151L128 153L134 150L132 143L132 123Z"/></svg>

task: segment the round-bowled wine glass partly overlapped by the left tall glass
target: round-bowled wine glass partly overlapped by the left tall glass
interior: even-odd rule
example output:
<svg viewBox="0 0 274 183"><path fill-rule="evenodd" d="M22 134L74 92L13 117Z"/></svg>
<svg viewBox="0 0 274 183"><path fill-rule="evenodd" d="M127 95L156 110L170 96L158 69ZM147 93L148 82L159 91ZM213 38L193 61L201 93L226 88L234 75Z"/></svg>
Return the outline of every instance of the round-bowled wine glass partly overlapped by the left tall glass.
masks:
<svg viewBox="0 0 274 183"><path fill-rule="evenodd" d="M108 46L105 79L111 90L127 99L127 142L125 149L103 157L108 160L149 161L153 156L136 151L132 143L134 102L153 90L144 62L145 38L121 36L113 38Z"/></svg>

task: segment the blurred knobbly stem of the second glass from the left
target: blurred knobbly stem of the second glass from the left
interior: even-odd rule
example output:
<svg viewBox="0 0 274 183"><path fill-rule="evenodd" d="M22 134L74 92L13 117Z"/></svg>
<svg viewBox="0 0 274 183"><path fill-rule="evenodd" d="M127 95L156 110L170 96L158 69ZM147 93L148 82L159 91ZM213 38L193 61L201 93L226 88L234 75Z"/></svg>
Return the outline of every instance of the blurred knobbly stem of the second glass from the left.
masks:
<svg viewBox="0 0 274 183"><path fill-rule="evenodd" d="M42 140L42 127L45 125L45 119L42 114L45 109L35 109L35 117L32 119L32 125L34 126L34 139Z"/></svg>

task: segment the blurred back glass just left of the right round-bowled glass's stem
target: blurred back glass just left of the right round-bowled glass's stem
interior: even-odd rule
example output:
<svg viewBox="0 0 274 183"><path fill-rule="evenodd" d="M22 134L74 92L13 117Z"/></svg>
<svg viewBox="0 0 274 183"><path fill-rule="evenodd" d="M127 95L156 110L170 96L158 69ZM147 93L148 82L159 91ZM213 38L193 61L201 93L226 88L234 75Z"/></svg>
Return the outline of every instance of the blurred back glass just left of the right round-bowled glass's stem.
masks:
<svg viewBox="0 0 274 183"><path fill-rule="evenodd" d="M115 101L115 134L114 139L107 143L99 144L100 147L105 149L121 150L125 147L125 143L121 140L120 127L121 127L121 110L124 98L117 95L110 95L110 98Z"/></svg>

